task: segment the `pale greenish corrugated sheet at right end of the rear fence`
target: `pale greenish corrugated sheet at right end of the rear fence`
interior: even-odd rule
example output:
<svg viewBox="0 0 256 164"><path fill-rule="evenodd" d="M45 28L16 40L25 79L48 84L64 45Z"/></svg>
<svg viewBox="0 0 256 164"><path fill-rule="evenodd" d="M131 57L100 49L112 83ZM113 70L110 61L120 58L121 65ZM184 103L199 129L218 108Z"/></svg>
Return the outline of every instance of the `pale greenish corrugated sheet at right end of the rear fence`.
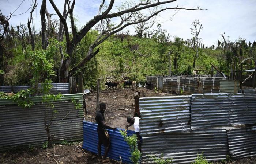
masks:
<svg viewBox="0 0 256 164"><path fill-rule="evenodd" d="M240 89L239 81L234 81L234 80L220 81L220 92L222 93L238 93L239 89Z"/></svg>

